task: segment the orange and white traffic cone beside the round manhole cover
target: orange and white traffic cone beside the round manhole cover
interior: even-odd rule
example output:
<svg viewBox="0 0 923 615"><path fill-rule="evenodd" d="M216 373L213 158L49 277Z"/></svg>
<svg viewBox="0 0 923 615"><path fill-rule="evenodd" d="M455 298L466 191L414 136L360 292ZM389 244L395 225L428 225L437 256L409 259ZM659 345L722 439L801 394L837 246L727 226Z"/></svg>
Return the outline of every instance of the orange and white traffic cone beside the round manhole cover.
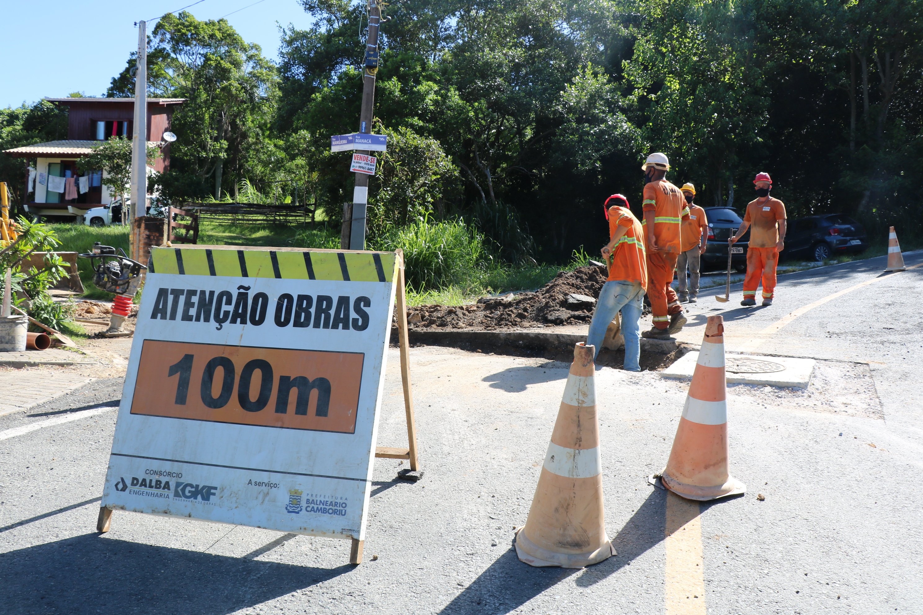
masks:
<svg viewBox="0 0 923 615"><path fill-rule="evenodd" d="M722 317L709 316L677 437L660 476L666 489L689 500L747 491L727 469L724 335Z"/></svg>

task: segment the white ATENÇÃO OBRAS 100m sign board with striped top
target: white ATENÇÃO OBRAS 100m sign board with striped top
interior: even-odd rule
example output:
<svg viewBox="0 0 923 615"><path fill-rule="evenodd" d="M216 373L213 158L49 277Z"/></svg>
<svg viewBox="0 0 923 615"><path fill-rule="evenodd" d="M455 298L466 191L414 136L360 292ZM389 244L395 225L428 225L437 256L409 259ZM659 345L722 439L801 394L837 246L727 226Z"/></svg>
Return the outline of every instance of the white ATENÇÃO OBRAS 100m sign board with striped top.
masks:
<svg viewBox="0 0 923 615"><path fill-rule="evenodd" d="M396 266L153 248L102 506L364 539Z"/></svg>

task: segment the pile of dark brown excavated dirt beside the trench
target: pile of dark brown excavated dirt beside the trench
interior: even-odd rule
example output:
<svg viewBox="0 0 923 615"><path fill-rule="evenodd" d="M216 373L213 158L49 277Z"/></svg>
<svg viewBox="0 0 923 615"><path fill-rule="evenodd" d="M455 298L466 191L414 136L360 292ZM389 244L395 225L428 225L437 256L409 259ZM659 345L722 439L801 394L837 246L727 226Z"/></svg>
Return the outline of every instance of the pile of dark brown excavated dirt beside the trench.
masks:
<svg viewBox="0 0 923 615"><path fill-rule="evenodd" d="M471 305L408 308L412 329L523 329L577 325L593 319L593 308L608 275L605 266L561 271L534 292L485 297Z"/></svg>

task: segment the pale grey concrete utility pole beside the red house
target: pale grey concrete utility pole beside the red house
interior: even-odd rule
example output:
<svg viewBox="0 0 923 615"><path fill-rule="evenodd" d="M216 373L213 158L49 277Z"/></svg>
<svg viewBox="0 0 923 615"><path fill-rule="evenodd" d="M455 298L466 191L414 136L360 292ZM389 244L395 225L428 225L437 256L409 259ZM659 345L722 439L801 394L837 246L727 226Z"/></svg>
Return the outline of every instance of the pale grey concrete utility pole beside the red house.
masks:
<svg viewBox="0 0 923 615"><path fill-rule="evenodd" d="M148 27L138 21L138 61L135 67L135 127L131 136L131 224L129 237L133 240L129 254L138 260L138 239L135 220L147 214L148 204ZM125 203L122 204L125 211Z"/></svg>

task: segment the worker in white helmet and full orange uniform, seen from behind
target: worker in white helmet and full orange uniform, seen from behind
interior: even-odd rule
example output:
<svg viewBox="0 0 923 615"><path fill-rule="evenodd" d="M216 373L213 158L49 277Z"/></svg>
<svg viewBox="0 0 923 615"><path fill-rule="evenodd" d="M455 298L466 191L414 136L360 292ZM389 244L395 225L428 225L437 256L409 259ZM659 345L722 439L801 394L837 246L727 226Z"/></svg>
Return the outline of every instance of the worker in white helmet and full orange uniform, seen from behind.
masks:
<svg viewBox="0 0 923 615"><path fill-rule="evenodd" d="M689 217L686 200L677 186L666 181L670 161L654 152L641 165L644 171L644 235L647 241L647 297L653 327L642 337L668 339L686 324L686 316L671 286L681 252L680 224Z"/></svg>

